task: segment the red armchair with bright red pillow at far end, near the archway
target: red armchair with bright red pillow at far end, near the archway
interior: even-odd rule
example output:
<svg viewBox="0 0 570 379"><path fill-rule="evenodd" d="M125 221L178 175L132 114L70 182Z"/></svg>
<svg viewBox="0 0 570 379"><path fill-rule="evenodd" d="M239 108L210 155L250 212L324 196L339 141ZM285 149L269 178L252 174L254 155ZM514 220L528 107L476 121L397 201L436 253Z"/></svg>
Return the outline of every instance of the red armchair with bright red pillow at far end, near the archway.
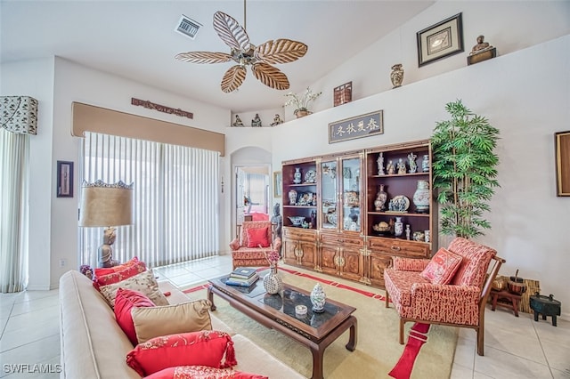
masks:
<svg viewBox="0 0 570 379"><path fill-rule="evenodd" d="M243 222L238 238L230 243L232 265L236 267L269 266L265 252L271 249L280 251L281 238L273 238L273 225L270 221ZM259 247L259 246L262 247Z"/></svg>

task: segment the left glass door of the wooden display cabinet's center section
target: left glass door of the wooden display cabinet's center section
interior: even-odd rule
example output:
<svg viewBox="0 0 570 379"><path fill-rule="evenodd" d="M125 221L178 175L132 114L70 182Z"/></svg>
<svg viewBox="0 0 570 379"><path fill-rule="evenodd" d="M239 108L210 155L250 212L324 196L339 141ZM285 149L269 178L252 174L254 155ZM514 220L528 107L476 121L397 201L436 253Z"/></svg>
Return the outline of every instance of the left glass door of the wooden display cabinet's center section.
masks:
<svg viewBox="0 0 570 379"><path fill-rule="evenodd" d="M337 161L321 162L322 229L338 229Z"/></svg>

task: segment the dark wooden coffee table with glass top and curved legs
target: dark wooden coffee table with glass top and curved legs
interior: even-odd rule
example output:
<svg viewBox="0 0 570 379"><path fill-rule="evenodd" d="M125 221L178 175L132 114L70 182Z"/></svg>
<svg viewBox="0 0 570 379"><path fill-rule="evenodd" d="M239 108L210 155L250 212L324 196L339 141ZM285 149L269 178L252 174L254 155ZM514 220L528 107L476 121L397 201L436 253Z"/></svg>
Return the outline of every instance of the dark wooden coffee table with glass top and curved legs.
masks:
<svg viewBox="0 0 570 379"><path fill-rule="evenodd" d="M356 318L352 315L354 307L327 299L324 312L311 310L310 294L296 286L284 285L282 295L267 294L262 280L248 288L226 286L224 279L209 280L208 299L212 310L216 310L214 294L230 303L236 310L255 319L265 327L272 328L290 338L303 343L313 354L313 379L322 379L322 358L325 349L338 336L350 328L350 337L346 349L356 348ZM295 307L305 305L305 315L297 315Z"/></svg>

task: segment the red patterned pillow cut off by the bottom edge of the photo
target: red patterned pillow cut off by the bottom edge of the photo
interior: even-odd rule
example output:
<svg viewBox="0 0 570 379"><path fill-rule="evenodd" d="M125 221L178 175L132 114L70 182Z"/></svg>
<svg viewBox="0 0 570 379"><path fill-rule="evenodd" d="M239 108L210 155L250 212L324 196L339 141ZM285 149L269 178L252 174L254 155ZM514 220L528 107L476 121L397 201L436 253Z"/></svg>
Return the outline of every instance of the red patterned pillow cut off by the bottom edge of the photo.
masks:
<svg viewBox="0 0 570 379"><path fill-rule="evenodd" d="M167 367L145 379L269 379L269 376L242 373L231 368L214 368L208 366Z"/></svg>

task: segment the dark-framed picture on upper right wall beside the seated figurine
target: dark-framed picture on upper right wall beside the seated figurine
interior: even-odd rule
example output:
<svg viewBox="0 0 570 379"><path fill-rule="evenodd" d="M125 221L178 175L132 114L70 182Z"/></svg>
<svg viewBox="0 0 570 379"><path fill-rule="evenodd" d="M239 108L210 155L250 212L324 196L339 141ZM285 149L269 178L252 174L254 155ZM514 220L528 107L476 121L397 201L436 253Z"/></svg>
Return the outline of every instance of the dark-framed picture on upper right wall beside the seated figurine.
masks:
<svg viewBox="0 0 570 379"><path fill-rule="evenodd" d="M461 13L420 30L416 36L418 38L419 67L463 52Z"/></svg>

